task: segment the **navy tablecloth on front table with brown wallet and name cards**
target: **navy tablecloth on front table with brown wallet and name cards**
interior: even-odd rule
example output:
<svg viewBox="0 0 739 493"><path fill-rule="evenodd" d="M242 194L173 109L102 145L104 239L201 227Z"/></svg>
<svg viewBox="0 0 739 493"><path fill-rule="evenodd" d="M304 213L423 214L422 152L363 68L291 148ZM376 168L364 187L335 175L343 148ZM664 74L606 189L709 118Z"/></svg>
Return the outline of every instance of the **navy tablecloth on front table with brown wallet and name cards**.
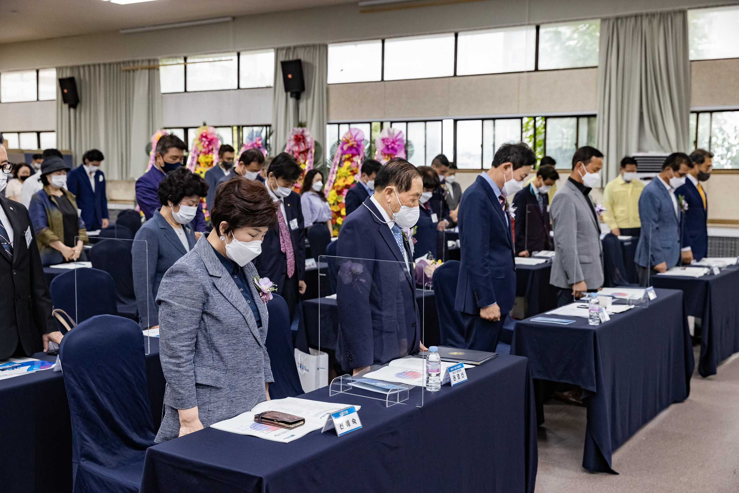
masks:
<svg viewBox="0 0 739 493"><path fill-rule="evenodd" d="M358 404L362 428L311 432L290 443L218 429L146 452L142 493L534 492L537 430L525 358L502 355L469 380L426 392L423 407L356 395L313 401Z"/></svg>

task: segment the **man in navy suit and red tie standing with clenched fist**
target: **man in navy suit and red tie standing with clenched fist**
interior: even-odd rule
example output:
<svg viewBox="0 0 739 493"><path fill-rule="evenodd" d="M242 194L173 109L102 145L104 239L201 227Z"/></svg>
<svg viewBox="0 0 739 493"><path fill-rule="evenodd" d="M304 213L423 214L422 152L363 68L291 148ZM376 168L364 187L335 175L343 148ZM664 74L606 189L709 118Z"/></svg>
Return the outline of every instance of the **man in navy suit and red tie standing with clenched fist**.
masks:
<svg viewBox="0 0 739 493"><path fill-rule="evenodd" d="M537 162L525 143L500 146L488 171L462 196L460 276L454 309L462 312L467 349L494 351L505 316L516 297L511 217L505 197L521 189Z"/></svg>

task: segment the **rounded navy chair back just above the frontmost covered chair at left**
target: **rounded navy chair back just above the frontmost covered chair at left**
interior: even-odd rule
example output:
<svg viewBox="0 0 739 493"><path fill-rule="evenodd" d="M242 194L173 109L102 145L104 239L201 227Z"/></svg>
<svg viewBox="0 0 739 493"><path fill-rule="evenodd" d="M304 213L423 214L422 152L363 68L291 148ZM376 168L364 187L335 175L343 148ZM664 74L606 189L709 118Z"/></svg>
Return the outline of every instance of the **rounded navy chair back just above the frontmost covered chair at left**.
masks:
<svg viewBox="0 0 739 493"><path fill-rule="evenodd" d="M49 292L53 307L67 312L78 324L95 315L118 315L115 281L106 271L78 268L59 274Z"/></svg>

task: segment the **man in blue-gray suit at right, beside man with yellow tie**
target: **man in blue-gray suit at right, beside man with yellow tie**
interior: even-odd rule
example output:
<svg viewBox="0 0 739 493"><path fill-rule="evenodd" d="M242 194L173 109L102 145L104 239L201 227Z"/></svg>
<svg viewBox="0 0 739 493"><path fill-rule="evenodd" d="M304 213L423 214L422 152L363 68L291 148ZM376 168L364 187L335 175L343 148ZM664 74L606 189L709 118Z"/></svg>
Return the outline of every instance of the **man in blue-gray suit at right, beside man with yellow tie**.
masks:
<svg viewBox="0 0 739 493"><path fill-rule="evenodd" d="M680 261L680 223L683 205L675 190L685 184L685 175L693 167L690 157L673 152L662 164L639 197L641 236L636 245L636 270L639 285L650 285L655 272L666 272Z"/></svg>

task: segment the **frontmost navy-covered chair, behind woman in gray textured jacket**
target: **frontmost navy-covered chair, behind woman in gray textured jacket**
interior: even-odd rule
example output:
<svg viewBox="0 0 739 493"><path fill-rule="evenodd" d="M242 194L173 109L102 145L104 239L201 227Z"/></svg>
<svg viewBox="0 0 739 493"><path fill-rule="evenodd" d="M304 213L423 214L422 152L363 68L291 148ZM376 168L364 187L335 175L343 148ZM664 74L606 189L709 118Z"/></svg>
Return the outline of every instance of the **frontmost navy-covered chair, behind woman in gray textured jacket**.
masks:
<svg viewBox="0 0 739 493"><path fill-rule="evenodd" d="M144 338L138 324L92 317L61 340L72 418L72 491L137 493L154 445Z"/></svg>

